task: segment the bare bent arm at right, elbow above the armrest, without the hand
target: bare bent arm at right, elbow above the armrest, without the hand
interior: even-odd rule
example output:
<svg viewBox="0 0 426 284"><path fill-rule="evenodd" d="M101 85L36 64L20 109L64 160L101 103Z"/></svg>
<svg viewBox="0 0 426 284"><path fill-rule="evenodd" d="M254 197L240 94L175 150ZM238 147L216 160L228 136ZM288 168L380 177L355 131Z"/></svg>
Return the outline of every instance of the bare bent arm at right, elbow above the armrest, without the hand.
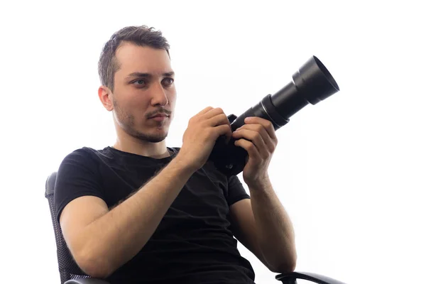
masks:
<svg viewBox="0 0 426 284"><path fill-rule="evenodd" d="M230 210L234 234L241 244L269 270L294 271L297 254L293 225L275 194L251 191L251 200L240 200Z"/></svg>

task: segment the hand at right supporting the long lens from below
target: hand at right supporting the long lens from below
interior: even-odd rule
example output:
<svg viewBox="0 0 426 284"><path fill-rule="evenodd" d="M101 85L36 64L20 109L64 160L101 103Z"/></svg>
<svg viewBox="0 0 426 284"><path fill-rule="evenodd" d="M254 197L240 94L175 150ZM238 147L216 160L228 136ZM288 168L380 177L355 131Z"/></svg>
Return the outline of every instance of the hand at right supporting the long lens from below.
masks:
<svg viewBox="0 0 426 284"><path fill-rule="evenodd" d="M244 182L249 187L258 187L268 179L268 166L278 144L271 121L260 117L247 117L244 125L232 133L240 146L249 153L243 170Z"/></svg>

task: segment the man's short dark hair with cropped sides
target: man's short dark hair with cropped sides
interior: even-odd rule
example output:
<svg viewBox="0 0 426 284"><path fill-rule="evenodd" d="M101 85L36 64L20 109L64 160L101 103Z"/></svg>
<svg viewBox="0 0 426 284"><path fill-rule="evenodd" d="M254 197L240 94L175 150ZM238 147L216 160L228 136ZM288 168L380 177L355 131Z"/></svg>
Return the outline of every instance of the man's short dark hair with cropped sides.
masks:
<svg viewBox="0 0 426 284"><path fill-rule="evenodd" d="M114 75L119 70L119 62L116 59L116 50L123 42L133 43L139 46L166 50L168 55L170 45L163 37L161 31L155 31L148 26L128 26L116 31L105 43L98 63L99 79L101 84L114 90Z"/></svg>

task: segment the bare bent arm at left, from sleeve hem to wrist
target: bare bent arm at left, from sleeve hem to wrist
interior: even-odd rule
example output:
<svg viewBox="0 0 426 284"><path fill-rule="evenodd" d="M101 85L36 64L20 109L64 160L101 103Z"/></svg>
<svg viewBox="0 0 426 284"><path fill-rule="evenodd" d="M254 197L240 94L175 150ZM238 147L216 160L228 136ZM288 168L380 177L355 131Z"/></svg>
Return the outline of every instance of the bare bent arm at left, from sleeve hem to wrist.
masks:
<svg viewBox="0 0 426 284"><path fill-rule="evenodd" d="M176 156L111 211L98 197L84 196L67 204L60 216L62 234L84 272L106 278L141 250L194 173L183 163Z"/></svg>

